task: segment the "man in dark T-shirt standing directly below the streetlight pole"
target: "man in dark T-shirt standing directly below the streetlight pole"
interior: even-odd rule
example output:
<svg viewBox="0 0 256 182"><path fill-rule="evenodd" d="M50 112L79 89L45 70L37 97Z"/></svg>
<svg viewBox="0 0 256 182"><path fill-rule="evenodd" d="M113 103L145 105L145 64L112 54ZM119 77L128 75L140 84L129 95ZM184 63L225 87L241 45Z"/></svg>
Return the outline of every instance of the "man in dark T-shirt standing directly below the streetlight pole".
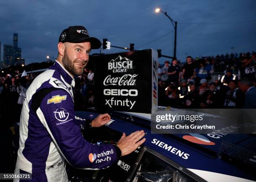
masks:
<svg viewBox="0 0 256 182"><path fill-rule="evenodd" d="M167 72L168 84L174 82L176 85L179 85L180 82L180 67L177 64L177 60L172 60L172 65L168 68Z"/></svg>

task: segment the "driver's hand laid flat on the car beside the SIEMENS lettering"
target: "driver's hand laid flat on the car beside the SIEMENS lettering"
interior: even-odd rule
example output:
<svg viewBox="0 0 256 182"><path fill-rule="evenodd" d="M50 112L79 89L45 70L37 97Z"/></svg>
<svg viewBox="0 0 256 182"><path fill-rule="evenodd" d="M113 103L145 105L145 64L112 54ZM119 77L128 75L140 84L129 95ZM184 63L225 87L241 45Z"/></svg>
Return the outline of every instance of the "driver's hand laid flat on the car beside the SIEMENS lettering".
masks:
<svg viewBox="0 0 256 182"><path fill-rule="evenodd" d="M145 133L144 133L143 130L133 132L130 135L128 135L127 137L125 136L125 133L123 133L122 137L120 138L120 140L116 144L116 146L119 147L121 152L122 152L121 156L125 156L125 155L130 154L131 152L136 150L138 148L138 146L143 144L143 142L146 141L146 138L143 138L141 140L141 138L144 135L145 135ZM139 140L141 140L141 141L139 141Z"/></svg>

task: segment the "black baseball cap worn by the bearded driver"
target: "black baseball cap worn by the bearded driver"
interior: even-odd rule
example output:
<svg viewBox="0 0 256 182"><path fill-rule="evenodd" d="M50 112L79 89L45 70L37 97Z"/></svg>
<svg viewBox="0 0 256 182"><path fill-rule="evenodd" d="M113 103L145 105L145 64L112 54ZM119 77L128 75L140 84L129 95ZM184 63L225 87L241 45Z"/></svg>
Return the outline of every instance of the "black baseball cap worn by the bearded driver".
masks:
<svg viewBox="0 0 256 182"><path fill-rule="evenodd" d="M90 37L88 31L83 26L70 26L61 32L59 42L81 43L90 42L91 49L99 49L101 42L95 37Z"/></svg>

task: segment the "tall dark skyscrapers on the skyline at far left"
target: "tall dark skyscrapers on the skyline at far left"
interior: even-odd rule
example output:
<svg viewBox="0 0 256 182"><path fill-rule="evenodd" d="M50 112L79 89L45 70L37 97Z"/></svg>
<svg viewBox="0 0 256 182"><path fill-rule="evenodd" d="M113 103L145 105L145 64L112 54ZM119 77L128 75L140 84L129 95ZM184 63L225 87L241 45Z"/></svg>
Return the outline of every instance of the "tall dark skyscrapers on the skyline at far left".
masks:
<svg viewBox="0 0 256 182"><path fill-rule="evenodd" d="M3 68L25 64L21 57L21 48L18 47L18 33L13 34L13 45L4 45L3 52Z"/></svg>

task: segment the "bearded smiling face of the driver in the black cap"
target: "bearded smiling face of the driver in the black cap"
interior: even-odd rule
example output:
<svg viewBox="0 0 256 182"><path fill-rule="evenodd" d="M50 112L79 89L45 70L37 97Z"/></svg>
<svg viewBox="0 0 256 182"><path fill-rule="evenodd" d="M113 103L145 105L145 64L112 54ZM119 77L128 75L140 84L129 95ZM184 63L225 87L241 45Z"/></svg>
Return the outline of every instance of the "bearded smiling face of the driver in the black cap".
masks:
<svg viewBox="0 0 256 182"><path fill-rule="evenodd" d="M72 75L82 75L84 67L89 60L91 51L90 42L65 44L65 52L62 64Z"/></svg>

